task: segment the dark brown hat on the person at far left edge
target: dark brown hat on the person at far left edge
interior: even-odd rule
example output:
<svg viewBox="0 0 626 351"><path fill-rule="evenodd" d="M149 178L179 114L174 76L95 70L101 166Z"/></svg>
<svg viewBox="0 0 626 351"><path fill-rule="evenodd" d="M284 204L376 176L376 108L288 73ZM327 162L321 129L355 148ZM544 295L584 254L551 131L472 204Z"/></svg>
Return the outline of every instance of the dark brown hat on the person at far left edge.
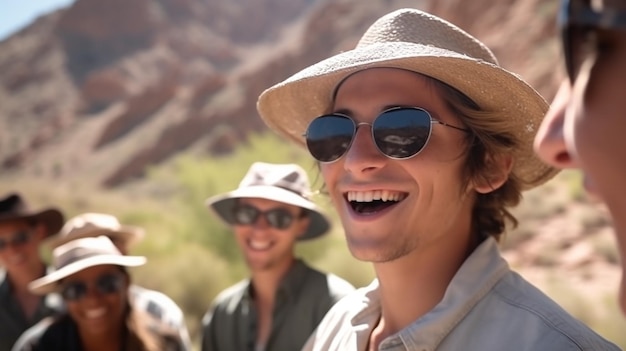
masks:
<svg viewBox="0 0 626 351"><path fill-rule="evenodd" d="M41 223L46 227L46 235L52 235L61 229L64 218L56 208L34 211L20 194L13 193L0 199L0 223L14 220Z"/></svg>

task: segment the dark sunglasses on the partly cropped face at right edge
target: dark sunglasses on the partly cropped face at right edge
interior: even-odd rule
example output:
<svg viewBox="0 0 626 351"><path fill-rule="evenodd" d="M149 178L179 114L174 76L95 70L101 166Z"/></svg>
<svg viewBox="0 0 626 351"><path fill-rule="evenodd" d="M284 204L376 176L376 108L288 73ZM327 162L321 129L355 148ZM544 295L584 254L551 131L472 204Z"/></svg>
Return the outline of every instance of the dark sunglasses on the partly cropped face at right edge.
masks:
<svg viewBox="0 0 626 351"><path fill-rule="evenodd" d="M604 8L596 12L589 0L561 0L558 22L567 74L574 83L582 63L597 54L597 30L626 29L626 11Z"/></svg>

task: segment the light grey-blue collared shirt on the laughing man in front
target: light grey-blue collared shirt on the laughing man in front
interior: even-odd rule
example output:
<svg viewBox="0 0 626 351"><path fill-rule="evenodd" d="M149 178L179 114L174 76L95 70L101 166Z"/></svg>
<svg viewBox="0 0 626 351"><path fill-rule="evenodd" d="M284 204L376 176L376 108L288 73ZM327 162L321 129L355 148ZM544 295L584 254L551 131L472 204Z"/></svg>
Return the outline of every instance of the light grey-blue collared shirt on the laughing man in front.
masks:
<svg viewBox="0 0 626 351"><path fill-rule="evenodd" d="M407 302L410 303L410 302ZM303 351L363 351L381 315L378 281L339 301ZM486 239L430 312L380 344L384 351L619 350L510 270Z"/></svg>

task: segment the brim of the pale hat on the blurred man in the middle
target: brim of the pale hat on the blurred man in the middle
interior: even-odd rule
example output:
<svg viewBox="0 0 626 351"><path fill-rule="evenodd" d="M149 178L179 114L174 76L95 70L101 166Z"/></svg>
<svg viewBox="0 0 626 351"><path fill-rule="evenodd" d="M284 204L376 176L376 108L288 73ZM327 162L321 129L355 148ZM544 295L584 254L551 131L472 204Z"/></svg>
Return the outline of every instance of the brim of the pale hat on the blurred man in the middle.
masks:
<svg viewBox="0 0 626 351"><path fill-rule="evenodd" d="M205 204L222 221L228 225L232 225L234 223L233 209L237 203L237 199L241 198L259 198L278 201L309 210L309 227L298 240L302 241L317 238L324 235L330 229L330 221L314 202L292 191L275 186L258 185L239 188L225 194L213 196L207 199Z"/></svg>

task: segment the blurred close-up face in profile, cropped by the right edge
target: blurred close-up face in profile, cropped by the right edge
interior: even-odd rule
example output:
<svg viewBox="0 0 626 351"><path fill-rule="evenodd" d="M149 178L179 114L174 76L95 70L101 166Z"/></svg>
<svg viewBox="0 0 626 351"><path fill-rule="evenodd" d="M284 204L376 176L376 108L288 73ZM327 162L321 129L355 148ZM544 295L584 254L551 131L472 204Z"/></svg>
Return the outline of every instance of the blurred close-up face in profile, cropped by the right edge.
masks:
<svg viewBox="0 0 626 351"><path fill-rule="evenodd" d="M607 4L626 11L626 1ZM575 80L562 83L535 149L556 167L583 170L585 188L611 211L626 258L626 28L588 31L571 40L574 48L585 51L574 50ZM626 260L622 262L626 267Z"/></svg>

